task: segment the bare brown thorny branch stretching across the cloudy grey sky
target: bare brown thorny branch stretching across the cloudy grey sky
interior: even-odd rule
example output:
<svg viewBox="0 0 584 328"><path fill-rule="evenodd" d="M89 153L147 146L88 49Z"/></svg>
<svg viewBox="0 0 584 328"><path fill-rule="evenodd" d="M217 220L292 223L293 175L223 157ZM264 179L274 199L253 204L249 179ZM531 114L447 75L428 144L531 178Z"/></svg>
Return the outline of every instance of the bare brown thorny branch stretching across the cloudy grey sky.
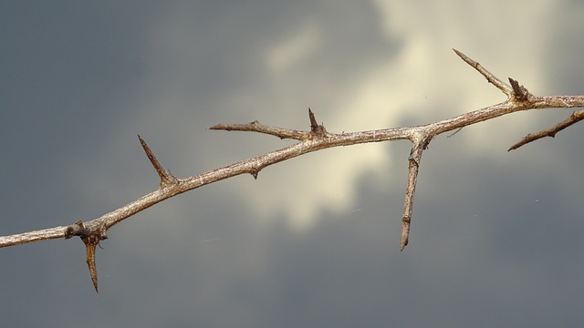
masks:
<svg viewBox="0 0 584 328"><path fill-rule="evenodd" d="M501 90L507 97L506 101L464 113L454 118L405 128L384 128L379 130L359 131L351 133L330 133L322 124L318 124L312 110L308 109L310 121L309 131L300 131L289 128L275 128L260 124L257 120L248 124L218 124L210 129L226 131L250 131L259 132L278 138L297 139L294 145L283 149L277 149L252 159L245 159L234 164L219 169L213 169L193 177L178 179L170 171L164 169L156 159L150 147L138 136L141 146L150 159L152 166L156 169L161 178L160 187L157 190L134 200L127 205L113 210L103 216L83 222L81 220L68 226L59 226L41 231L29 231L9 236L0 237L0 247L14 246L18 244L45 241L49 239L65 238L69 239L78 236L85 243L87 250L87 262L91 281L98 291L98 277L95 265L95 251L99 241L107 239L106 231L118 224L121 220L146 210L154 204L171 198L188 190L193 190L204 185L214 183L221 179L231 178L240 174L249 173L255 179L261 169L280 161L292 159L297 156L339 146L356 145L360 143L381 142L388 140L409 139L412 142L412 150L408 160L408 179L405 191L405 201L401 215L401 241L400 251L403 251L408 244L410 237L410 224L412 221L413 196L415 194L418 170L422 160L422 152L432 141L432 139L444 132L458 130L463 127L473 125L487 119L498 118L500 116L522 110L539 108L580 108L584 107L584 96L548 96L537 97L530 94L526 87L523 87L515 79L508 78L509 85L495 77L478 62L454 49L456 55L460 56L464 62L474 67L486 80ZM528 134L518 141L509 150L517 149L525 144L539 138L554 137L556 133L564 128L584 119L584 110L576 111L569 118L558 123L556 126L547 128L536 134Z"/></svg>

